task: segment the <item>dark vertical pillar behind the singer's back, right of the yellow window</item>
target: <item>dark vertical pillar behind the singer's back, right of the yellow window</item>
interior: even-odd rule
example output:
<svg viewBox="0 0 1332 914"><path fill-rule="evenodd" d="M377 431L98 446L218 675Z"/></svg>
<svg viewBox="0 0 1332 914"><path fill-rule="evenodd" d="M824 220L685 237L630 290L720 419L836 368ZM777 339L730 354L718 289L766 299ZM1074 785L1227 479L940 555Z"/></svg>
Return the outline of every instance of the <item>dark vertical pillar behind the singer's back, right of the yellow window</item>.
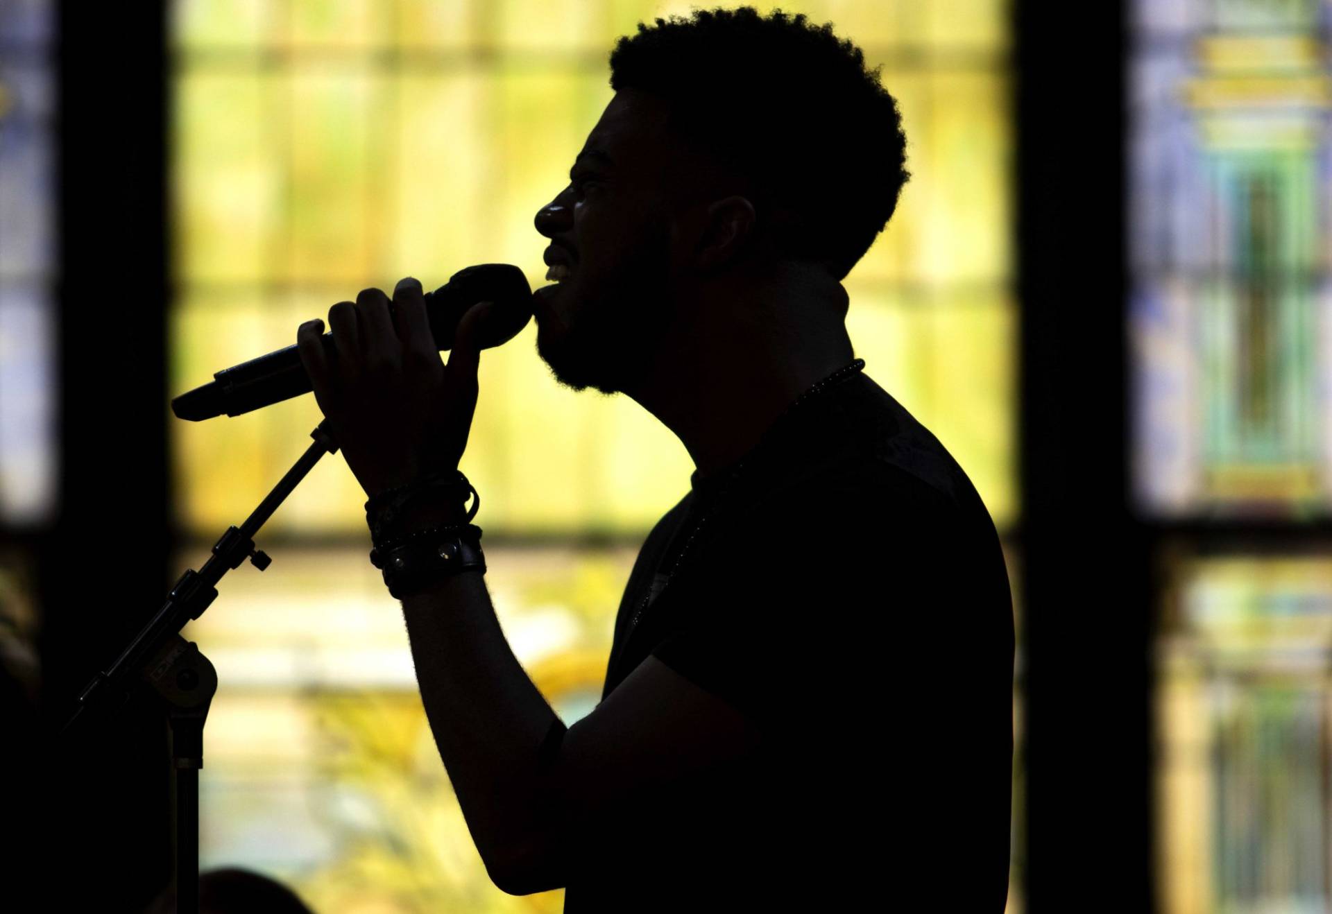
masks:
<svg viewBox="0 0 1332 914"><path fill-rule="evenodd" d="M1128 512L1123 4L1018 0L1027 882L1151 911L1154 594Z"/></svg>

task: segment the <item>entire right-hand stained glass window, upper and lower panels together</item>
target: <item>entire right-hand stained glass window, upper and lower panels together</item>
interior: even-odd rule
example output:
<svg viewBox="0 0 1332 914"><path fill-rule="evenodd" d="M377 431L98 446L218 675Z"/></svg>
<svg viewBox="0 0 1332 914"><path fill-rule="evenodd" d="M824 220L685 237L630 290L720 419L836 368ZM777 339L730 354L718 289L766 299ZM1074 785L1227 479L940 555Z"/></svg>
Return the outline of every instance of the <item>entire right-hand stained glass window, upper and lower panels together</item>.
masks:
<svg viewBox="0 0 1332 914"><path fill-rule="evenodd" d="M1139 0L1135 501L1158 560L1166 914L1324 910L1332 564L1172 521L1325 517L1332 4Z"/></svg>

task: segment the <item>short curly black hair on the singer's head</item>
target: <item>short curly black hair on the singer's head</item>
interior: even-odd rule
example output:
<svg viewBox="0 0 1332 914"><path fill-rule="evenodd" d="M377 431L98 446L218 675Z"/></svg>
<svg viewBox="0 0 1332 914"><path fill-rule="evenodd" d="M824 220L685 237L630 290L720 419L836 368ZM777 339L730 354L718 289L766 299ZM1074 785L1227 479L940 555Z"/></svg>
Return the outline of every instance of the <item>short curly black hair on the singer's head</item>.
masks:
<svg viewBox="0 0 1332 914"><path fill-rule="evenodd" d="M615 43L610 88L663 100L675 139L751 181L777 256L843 280L911 177L882 64L866 69L858 47L805 13L694 8L655 23Z"/></svg>

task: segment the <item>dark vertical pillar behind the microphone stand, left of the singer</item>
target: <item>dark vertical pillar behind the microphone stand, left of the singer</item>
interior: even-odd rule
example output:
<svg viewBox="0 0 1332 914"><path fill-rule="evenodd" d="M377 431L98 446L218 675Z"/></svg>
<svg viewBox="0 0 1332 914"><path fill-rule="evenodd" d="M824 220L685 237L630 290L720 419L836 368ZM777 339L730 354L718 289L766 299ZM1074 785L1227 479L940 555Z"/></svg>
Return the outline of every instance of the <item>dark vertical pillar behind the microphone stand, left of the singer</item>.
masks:
<svg viewBox="0 0 1332 914"><path fill-rule="evenodd" d="M61 513L41 562L59 726L165 600L165 16L59 4ZM137 702L45 749L48 910L140 911L170 879L165 718ZM36 910L36 909L33 909Z"/></svg>

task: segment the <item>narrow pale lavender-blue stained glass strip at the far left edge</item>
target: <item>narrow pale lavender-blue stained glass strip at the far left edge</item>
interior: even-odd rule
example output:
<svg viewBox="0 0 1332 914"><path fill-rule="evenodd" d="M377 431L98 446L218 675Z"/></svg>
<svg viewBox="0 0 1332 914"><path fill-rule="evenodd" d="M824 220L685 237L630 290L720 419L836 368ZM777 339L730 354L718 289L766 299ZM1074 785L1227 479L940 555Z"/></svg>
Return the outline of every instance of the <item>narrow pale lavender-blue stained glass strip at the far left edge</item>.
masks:
<svg viewBox="0 0 1332 914"><path fill-rule="evenodd" d="M0 5L0 524L56 506L53 4Z"/></svg>

